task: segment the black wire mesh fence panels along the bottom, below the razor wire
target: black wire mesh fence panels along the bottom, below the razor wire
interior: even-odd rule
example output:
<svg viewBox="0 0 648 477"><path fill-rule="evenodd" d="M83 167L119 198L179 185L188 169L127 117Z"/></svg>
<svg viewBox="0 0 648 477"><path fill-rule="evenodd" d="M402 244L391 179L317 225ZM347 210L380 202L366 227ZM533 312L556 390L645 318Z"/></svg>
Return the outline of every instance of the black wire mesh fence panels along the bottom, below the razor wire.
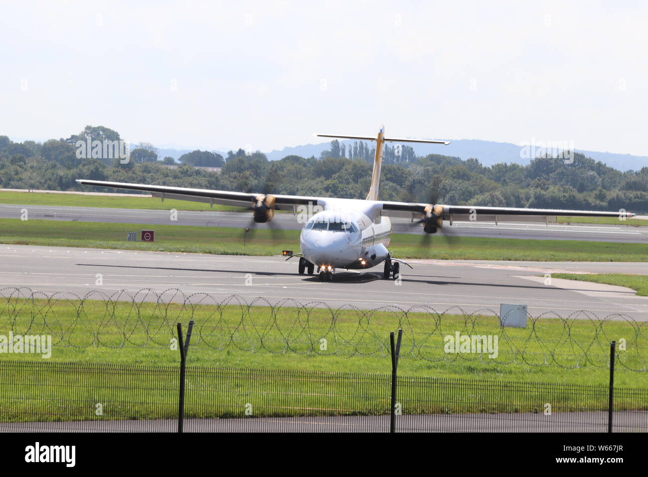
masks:
<svg viewBox="0 0 648 477"><path fill-rule="evenodd" d="M607 432L607 385L399 376L397 432ZM177 432L178 366L0 360L0 432ZM391 375L188 366L185 432L389 432ZM614 388L613 432L648 431Z"/></svg>

